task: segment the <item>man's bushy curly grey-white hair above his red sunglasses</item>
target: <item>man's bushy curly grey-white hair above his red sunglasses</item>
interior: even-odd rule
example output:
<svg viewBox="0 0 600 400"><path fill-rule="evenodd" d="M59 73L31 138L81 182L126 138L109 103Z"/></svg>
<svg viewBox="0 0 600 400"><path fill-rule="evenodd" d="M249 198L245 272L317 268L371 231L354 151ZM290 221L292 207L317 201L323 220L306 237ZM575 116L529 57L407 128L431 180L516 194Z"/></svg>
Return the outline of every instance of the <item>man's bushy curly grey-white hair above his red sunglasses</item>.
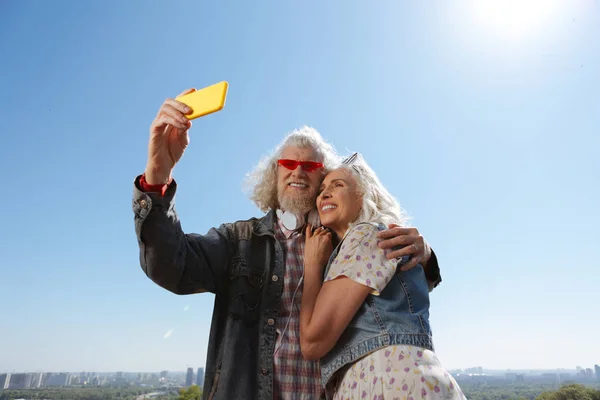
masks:
<svg viewBox="0 0 600 400"><path fill-rule="evenodd" d="M323 175L340 165L341 157L334 147L327 143L314 128L303 126L289 133L271 154L264 156L252 171L246 174L246 192L258 208L267 212L279 207L277 198L277 160L286 147L312 148L317 160L324 165Z"/></svg>

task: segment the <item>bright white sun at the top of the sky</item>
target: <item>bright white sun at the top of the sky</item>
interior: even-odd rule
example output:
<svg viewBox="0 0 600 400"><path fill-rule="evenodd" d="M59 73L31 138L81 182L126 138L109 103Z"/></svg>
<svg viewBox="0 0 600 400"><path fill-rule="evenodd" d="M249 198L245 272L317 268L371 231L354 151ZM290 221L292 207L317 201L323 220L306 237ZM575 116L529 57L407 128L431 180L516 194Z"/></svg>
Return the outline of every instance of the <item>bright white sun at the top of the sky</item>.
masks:
<svg viewBox="0 0 600 400"><path fill-rule="evenodd" d="M504 38L524 39L543 30L568 2L561 0L473 0L475 20Z"/></svg>

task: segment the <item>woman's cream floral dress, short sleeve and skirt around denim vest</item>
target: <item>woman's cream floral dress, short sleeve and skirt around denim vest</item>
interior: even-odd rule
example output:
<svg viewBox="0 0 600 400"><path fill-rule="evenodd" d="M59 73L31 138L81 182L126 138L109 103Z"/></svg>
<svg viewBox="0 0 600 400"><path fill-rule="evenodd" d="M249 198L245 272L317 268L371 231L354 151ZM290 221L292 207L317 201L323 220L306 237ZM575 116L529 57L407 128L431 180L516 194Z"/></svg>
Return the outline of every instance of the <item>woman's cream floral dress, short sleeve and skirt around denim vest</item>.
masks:
<svg viewBox="0 0 600 400"><path fill-rule="evenodd" d="M396 273L377 246L378 229L361 224L352 228L325 282L340 276L370 287L378 296ZM393 345L376 350L352 364L341 378L334 399L466 399L435 353L417 346Z"/></svg>

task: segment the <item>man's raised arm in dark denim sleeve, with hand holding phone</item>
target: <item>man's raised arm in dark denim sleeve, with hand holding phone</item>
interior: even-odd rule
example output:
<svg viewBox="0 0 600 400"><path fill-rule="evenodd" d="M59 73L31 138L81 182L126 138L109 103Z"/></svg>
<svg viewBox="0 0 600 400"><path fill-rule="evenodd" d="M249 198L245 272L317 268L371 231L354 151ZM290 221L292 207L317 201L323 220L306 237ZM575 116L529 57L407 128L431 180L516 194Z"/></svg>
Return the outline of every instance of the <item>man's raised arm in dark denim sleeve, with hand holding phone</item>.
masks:
<svg viewBox="0 0 600 400"><path fill-rule="evenodd" d="M206 235L185 234L175 211L177 184L172 173L189 144L192 123L186 114L190 112L175 99L163 102L150 125L146 170L133 188L142 269L158 285L177 294L218 291L231 250L225 225Z"/></svg>

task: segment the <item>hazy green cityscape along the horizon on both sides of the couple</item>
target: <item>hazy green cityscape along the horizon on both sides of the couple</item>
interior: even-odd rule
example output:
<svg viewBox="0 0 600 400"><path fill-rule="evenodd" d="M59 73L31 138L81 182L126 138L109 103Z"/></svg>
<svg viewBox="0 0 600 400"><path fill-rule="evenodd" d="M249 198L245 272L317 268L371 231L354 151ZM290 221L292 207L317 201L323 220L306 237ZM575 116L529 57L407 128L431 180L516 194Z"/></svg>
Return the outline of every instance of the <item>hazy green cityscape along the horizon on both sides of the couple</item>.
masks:
<svg viewBox="0 0 600 400"><path fill-rule="evenodd" d="M595 374L590 368L584 370L560 370L554 372L529 371L529 373L500 371L488 374L482 367L472 367L463 372L450 371L456 381L464 388L468 398L484 398L482 395L493 395L494 398L537 398L542 393L560 391L589 393L600 389L600 366L595 365ZM176 398L181 390L192 386L202 388L204 370L188 368L183 371L135 372L122 371L110 374L80 372L75 374L52 373L0 373L0 397L54 395L107 396L109 394L133 398L143 396L171 396ZM202 390L202 389L201 389ZM512 397L511 397L512 396Z"/></svg>

